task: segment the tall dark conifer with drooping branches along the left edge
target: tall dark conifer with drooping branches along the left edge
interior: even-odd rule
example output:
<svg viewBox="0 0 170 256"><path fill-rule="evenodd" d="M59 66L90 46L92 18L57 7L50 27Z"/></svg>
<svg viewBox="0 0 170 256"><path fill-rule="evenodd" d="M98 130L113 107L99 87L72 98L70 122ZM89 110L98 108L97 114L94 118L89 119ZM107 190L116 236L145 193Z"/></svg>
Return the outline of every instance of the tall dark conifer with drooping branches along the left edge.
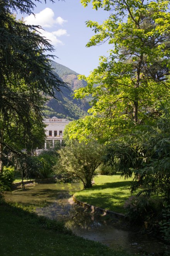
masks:
<svg viewBox="0 0 170 256"><path fill-rule="evenodd" d="M29 15L35 6L31 0L0 1L1 171L4 147L20 154L23 144L31 150L39 144L37 137L42 142L44 96L56 97L63 85L51 70L49 58L53 55L49 52L53 52L53 46L38 33L41 27L26 25L12 14L19 11Z"/></svg>

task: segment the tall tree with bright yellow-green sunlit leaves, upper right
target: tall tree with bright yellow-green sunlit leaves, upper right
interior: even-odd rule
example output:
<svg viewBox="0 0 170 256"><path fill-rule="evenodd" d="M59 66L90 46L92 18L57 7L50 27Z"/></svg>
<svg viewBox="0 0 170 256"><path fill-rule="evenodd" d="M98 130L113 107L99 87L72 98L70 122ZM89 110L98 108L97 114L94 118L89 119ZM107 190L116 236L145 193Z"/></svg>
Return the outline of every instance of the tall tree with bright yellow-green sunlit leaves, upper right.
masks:
<svg viewBox="0 0 170 256"><path fill-rule="evenodd" d="M109 18L102 24L87 21L95 35L87 47L108 42L109 57L86 78L88 85L75 91L76 98L92 95L89 116L70 128L71 137L110 140L160 116L169 90L169 1L82 0L94 9L104 8ZM94 86L95 85L95 86Z"/></svg>

